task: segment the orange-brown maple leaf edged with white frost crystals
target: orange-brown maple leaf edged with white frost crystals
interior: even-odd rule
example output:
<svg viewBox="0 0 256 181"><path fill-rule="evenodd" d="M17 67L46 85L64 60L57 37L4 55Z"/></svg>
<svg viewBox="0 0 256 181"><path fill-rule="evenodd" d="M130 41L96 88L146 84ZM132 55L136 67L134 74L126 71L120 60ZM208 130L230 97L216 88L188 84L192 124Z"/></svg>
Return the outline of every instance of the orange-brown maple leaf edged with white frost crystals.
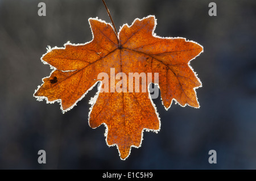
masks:
<svg viewBox="0 0 256 181"><path fill-rule="evenodd" d="M151 82L158 83L166 109L173 100L181 106L199 107L195 89L201 82L189 61L203 52L201 45L181 37L156 36L156 20L152 15L135 19L131 26L124 24L118 38L111 24L94 18L90 18L89 23L92 41L78 45L68 42L65 48L49 48L41 58L53 71L35 91L38 100L60 102L61 110L68 111L96 86L100 81L98 74L104 72L110 76L110 68L115 68L115 74L159 73L159 83ZM117 82L115 80L115 84ZM147 82L147 87L151 82ZM159 131L158 113L148 99L148 89L146 92L100 92L101 89L102 85L91 100L89 125L97 128L105 124L107 144L117 145L121 159L125 159L132 146L141 146L143 130Z"/></svg>

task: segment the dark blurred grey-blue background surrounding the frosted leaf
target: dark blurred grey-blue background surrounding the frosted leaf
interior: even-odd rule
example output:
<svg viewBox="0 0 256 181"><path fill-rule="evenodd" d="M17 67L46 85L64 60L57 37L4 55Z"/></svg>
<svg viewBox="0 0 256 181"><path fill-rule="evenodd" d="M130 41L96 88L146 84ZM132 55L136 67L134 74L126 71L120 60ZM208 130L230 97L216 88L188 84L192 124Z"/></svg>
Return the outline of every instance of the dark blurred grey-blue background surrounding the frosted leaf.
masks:
<svg viewBox="0 0 256 181"><path fill-rule="evenodd" d="M38 3L46 15L38 16ZM106 0L115 26L155 15L155 33L204 46L191 62L203 82L200 109L172 104L158 134L144 132L126 161L105 142L105 127L88 125L96 87L71 111L32 96L51 73L46 47L92 40L88 18L110 22L100 0L0 0L0 169L256 169L256 1ZM38 150L47 163L38 163ZM217 151L217 164L208 151Z"/></svg>

